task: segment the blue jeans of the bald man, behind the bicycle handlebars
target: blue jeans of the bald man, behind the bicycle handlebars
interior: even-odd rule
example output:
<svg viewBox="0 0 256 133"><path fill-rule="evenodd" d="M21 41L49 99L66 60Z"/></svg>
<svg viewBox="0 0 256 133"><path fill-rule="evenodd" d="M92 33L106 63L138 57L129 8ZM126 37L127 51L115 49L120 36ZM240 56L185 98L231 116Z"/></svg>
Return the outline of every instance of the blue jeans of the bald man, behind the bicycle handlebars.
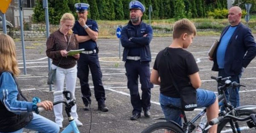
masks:
<svg viewBox="0 0 256 133"><path fill-rule="evenodd" d="M227 75L227 73L224 72L224 69L219 69L218 76L228 77L230 75ZM231 82L235 81L237 83L240 83L240 77L241 77L241 73L238 74L238 75L231 76L230 80L231 80ZM218 84L218 87L219 86L221 86L221 85ZM240 103L239 103L239 100L240 100L240 98L239 98L239 89L240 89L240 87L228 88L225 91L225 95L226 95L227 100L231 103L232 106L234 106L234 108L240 106ZM221 110L224 110L224 107L222 107Z"/></svg>

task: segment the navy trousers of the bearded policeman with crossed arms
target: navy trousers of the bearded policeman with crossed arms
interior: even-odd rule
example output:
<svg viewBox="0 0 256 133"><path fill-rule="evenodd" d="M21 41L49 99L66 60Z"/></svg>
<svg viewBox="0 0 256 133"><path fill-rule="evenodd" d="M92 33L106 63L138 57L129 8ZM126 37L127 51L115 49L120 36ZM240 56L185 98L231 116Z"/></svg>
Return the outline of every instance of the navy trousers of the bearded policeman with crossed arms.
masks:
<svg viewBox="0 0 256 133"><path fill-rule="evenodd" d="M149 62L127 60L125 62L126 76L127 76L127 87L130 90L131 103L133 106L132 113L141 113L141 110L150 109L150 97L151 88L153 84L150 83L150 67ZM138 77L140 77L141 83L141 98L138 87Z"/></svg>

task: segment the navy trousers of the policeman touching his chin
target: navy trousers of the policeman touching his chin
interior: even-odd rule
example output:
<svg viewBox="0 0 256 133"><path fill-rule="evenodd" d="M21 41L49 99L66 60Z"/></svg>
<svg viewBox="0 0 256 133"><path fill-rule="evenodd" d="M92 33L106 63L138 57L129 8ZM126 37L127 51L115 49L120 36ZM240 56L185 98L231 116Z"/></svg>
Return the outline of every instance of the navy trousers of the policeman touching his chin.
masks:
<svg viewBox="0 0 256 133"><path fill-rule="evenodd" d="M92 81L94 85L94 95L98 102L98 105L101 105L105 101L105 90L102 85L102 72L99 65L99 57L97 53L93 54L80 54L80 58L77 61L77 77L80 80L81 84L81 93L83 97L86 97L91 104L91 91L88 84L89 69L92 74ZM88 105L86 98L82 98L85 105Z"/></svg>

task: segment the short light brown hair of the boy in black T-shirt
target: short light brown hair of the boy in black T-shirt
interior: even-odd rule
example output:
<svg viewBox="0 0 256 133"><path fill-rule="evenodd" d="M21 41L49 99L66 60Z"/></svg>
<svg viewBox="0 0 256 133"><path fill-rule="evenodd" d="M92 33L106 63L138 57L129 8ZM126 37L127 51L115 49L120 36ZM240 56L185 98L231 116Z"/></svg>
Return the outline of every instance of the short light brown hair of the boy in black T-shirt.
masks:
<svg viewBox="0 0 256 133"><path fill-rule="evenodd" d="M179 21L176 21L174 23L172 31L173 39L179 38L184 33L187 33L189 35L194 34L194 36L196 36L196 27L188 19L181 19Z"/></svg>

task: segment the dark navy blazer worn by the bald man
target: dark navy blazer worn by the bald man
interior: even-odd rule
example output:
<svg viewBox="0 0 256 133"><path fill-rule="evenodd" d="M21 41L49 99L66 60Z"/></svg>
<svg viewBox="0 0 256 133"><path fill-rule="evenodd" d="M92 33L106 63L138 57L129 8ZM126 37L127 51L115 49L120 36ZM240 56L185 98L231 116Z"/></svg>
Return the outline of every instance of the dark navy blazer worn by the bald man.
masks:
<svg viewBox="0 0 256 133"><path fill-rule="evenodd" d="M223 35L229 29L230 25L225 27L220 36L219 44L217 45L215 52L213 54L213 67L212 71L219 71L219 66L217 64L217 49L220 45ZM247 53L246 53L247 52ZM246 53L246 55L245 55ZM251 34L251 29L239 23L236 30L231 36L224 60L224 71L228 75L238 75L242 71L242 67L246 68L251 60L256 55L256 43Z"/></svg>

